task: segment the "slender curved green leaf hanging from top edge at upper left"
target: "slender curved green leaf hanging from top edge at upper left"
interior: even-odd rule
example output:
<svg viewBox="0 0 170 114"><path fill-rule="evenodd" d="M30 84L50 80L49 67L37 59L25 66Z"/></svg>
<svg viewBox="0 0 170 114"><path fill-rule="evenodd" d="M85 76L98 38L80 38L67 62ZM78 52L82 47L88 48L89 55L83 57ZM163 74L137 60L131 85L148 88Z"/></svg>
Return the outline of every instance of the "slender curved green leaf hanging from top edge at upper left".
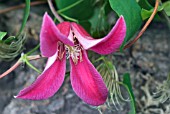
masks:
<svg viewBox="0 0 170 114"><path fill-rule="evenodd" d="M30 0L25 0L25 4L26 4L26 6L24 9L23 21L22 21L22 25L21 25L18 35L22 33L22 31L26 25L27 19L29 17L29 13L30 13Z"/></svg>

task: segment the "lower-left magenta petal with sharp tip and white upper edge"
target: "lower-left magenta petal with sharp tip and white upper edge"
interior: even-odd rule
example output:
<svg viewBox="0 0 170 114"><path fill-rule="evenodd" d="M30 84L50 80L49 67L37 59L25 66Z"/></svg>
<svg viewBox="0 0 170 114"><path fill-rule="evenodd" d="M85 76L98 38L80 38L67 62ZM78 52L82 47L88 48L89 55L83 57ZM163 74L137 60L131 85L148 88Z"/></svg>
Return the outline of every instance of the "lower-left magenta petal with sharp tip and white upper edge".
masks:
<svg viewBox="0 0 170 114"><path fill-rule="evenodd" d="M42 100L53 96L64 81L66 59L55 60L49 58L44 72L29 87L21 90L16 98Z"/></svg>

